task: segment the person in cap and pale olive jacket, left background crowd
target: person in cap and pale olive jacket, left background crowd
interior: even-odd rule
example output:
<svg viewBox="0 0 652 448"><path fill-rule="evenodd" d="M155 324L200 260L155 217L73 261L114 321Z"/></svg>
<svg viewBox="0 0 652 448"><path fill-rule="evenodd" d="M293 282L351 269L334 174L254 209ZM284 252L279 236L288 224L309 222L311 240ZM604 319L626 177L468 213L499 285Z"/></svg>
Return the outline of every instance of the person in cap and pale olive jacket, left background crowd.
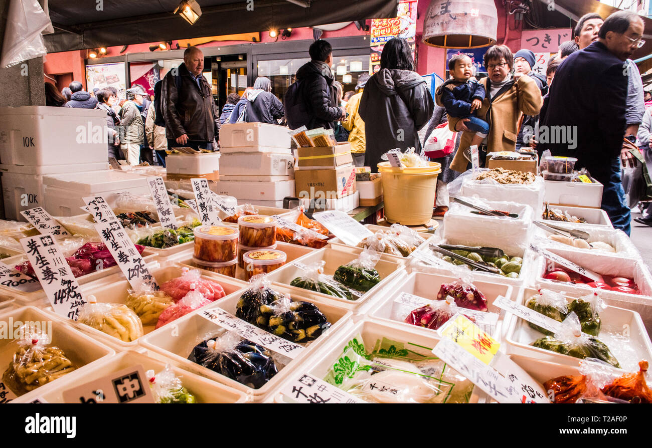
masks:
<svg viewBox="0 0 652 448"><path fill-rule="evenodd" d="M145 143L145 126L139 106L143 105L140 89L127 89L126 102L120 109L120 149L129 165L138 165L141 146Z"/></svg>

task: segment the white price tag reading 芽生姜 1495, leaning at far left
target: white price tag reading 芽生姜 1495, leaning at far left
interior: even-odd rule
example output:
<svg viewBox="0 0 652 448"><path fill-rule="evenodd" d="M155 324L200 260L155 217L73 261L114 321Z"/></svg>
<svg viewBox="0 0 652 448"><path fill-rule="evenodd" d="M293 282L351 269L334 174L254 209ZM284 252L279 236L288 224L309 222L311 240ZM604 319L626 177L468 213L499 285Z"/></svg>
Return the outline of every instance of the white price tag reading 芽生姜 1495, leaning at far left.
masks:
<svg viewBox="0 0 652 448"><path fill-rule="evenodd" d="M83 300L80 285L52 235L28 236L20 240L27 259L57 315L77 320Z"/></svg>

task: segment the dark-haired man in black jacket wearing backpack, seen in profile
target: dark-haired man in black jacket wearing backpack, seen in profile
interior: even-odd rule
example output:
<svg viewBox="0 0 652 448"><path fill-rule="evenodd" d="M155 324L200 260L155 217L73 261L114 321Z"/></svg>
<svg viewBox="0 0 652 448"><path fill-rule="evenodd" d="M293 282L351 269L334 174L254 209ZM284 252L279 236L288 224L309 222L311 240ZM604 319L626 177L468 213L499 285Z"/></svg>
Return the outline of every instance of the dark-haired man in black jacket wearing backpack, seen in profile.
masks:
<svg viewBox="0 0 652 448"><path fill-rule="evenodd" d="M309 63L297 71L297 82L284 98L286 118L291 129L334 129L335 122L346 118L346 109L334 102L333 48L325 40L316 40L308 49Z"/></svg>

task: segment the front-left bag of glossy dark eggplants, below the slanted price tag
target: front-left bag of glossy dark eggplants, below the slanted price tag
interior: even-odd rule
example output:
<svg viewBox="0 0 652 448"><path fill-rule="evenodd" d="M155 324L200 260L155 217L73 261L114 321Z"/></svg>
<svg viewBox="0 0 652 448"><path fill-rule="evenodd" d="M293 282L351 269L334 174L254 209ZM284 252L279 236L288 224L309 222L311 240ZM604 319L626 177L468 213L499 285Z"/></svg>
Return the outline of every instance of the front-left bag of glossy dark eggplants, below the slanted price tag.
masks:
<svg viewBox="0 0 652 448"><path fill-rule="evenodd" d="M231 332L197 344L188 359L254 389L278 373L269 350Z"/></svg>

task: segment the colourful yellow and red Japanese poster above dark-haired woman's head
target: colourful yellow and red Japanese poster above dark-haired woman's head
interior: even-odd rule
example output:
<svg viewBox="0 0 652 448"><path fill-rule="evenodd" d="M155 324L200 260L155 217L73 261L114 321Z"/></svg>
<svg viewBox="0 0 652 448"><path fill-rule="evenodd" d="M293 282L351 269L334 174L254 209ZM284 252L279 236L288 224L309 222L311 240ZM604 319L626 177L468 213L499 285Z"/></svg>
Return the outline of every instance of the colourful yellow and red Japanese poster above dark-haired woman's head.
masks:
<svg viewBox="0 0 652 448"><path fill-rule="evenodd" d="M404 38L415 57L417 42L417 0L402 0L398 3L396 17L391 19L372 19L371 21L371 66L372 73L380 70L380 55L385 42L393 37Z"/></svg>

